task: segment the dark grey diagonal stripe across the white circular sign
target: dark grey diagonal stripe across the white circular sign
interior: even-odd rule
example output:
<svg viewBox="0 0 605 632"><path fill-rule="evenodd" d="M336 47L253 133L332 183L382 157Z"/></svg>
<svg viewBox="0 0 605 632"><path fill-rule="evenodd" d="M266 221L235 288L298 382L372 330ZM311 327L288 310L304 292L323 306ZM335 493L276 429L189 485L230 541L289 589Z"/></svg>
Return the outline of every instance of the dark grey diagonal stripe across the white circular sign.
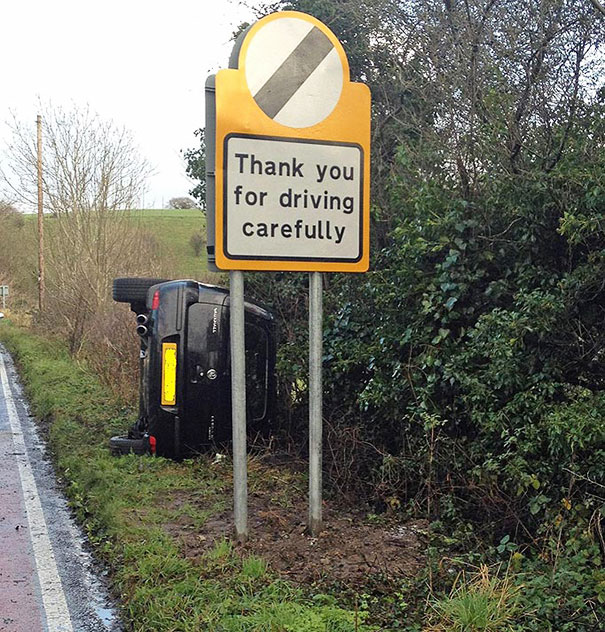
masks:
<svg viewBox="0 0 605 632"><path fill-rule="evenodd" d="M261 110L274 118L333 48L326 35L314 26L254 95Z"/></svg>

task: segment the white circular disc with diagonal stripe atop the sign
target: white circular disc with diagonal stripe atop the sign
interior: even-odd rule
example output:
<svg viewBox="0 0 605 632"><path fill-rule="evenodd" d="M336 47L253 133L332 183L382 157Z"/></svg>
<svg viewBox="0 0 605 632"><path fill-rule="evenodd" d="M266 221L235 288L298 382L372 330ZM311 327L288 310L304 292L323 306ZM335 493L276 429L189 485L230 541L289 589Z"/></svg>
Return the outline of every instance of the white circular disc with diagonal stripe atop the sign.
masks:
<svg viewBox="0 0 605 632"><path fill-rule="evenodd" d="M344 69L338 50L307 20L267 22L252 36L244 66L257 105L287 127L320 123L340 99Z"/></svg>

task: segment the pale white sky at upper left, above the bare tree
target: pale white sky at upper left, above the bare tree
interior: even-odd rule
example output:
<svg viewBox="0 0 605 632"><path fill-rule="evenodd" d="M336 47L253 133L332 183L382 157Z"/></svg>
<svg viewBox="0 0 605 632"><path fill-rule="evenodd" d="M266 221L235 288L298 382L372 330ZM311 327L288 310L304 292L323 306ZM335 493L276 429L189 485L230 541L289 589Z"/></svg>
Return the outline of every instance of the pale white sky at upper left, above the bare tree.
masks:
<svg viewBox="0 0 605 632"><path fill-rule="evenodd" d="M0 153L11 110L33 128L39 99L88 104L153 165L141 206L188 195L180 152L204 126L206 77L253 19L239 0L0 0Z"/></svg>

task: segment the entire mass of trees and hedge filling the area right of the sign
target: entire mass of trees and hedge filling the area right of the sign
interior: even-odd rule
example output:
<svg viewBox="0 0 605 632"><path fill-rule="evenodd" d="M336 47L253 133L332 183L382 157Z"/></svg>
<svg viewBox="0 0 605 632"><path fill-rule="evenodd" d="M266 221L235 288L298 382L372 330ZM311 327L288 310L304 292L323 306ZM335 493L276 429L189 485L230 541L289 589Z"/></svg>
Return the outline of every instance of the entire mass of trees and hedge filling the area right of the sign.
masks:
<svg viewBox="0 0 605 632"><path fill-rule="evenodd" d="M580 0L271 8L326 23L372 88L371 271L324 293L331 489L525 556L517 629L599 629L605 20ZM248 279L302 442L306 280Z"/></svg>

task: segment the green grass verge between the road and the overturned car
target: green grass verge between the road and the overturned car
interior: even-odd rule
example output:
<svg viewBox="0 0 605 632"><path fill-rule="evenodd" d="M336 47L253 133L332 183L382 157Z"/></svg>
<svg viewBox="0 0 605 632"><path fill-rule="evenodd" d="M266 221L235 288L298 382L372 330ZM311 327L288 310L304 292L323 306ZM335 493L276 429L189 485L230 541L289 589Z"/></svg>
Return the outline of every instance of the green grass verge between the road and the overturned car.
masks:
<svg viewBox="0 0 605 632"><path fill-rule="evenodd" d="M186 558L167 525L199 528L232 493L228 463L110 456L107 440L132 411L112 398L64 346L0 324L76 516L112 569L124 619L137 632L369 632L361 616L313 599L272 576L264 560L241 559L228 539ZM251 481L254 485L254 480ZM195 502L179 506L179 495Z"/></svg>

